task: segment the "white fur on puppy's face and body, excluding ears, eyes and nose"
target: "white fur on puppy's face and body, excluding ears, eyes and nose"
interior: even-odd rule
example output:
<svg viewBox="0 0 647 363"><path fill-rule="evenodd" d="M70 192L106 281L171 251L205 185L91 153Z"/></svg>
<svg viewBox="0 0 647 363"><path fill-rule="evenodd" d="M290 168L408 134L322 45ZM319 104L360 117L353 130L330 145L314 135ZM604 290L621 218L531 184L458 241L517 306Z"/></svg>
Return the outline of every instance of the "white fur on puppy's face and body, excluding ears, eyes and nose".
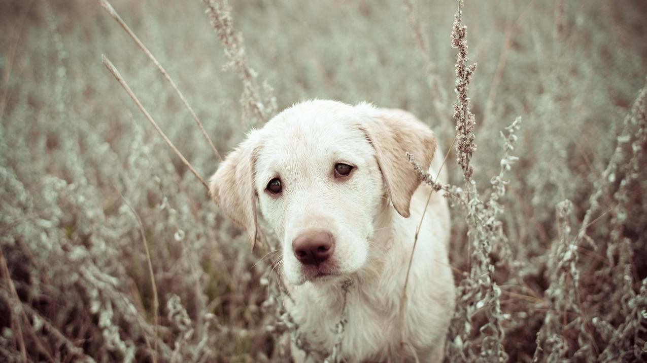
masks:
<svg viewBox="0 0 647 363"><path fill-rule="evenodd" d="M430 188L421 185L416 190L413 185L409 218L389 202L399 185L386 185L381 169L388 166L378 160L377 141L364 128L373 127L369 119L393 115L408 118L416 127L422 125L402 111L307 101L284 110L246 141L254 148L252 183L258 205L283 249L283 276L291 296L285 304L314 348L333 349L344 299L340 286L345 280L353 281L342 340L342 355L348 362L411 359L412 348L421 362L442 360L454 311L454 280L447 258L449 211L443 196L433 193L411 265L400 327L400 296ZM434 150L417 152L433 154ZM439 153L430 172L437 172L441 161ZM338 162L356 166L345 180L334 178ZM410 167L404 154L401 162ZM212 178L214 189L217 176L218 172ZM283 182L278 196L265 190L276 177ZM303 266L292 252L294 238L313 227L334 237L333 254L320 267ZM333 276L316 277L320 272ZM400 342L401 330L407 344Z"/></svg>

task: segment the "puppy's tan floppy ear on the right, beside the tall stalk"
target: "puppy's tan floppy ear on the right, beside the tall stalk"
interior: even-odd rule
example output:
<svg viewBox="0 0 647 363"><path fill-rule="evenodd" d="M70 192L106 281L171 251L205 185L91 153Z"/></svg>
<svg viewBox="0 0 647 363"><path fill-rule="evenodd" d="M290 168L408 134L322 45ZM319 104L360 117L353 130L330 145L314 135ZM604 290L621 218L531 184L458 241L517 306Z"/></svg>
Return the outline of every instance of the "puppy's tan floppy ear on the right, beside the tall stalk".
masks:
<svg viewBox="0 0 647 363"><path fill-rule="evenodd" d="M366 107L366 105L360 105ZM377 163L400 215L410 215L411 196L418 188L418 173L407 161L410 152L423 170L429 169L436 150L436 138L429 127L402 110L373 109L371 117L360 125L375 148Z"/></svg>

